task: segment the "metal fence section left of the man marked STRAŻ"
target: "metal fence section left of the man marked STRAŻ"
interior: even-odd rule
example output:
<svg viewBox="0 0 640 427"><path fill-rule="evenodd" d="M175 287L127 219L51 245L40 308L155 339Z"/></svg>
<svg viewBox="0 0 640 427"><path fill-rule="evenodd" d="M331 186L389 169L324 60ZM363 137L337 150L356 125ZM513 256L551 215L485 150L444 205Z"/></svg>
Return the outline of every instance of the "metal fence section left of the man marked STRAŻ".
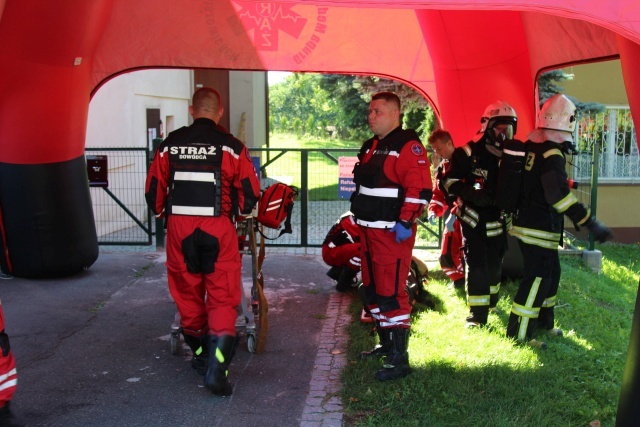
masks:
<svg viewBox="0 0 640 427"><path fill-rule="evenodd" d="M151 245L151 213L144 199L149 165L146 148L86 148L107 157L107 187L91 187L93 217L100 245Z"/></svg>

